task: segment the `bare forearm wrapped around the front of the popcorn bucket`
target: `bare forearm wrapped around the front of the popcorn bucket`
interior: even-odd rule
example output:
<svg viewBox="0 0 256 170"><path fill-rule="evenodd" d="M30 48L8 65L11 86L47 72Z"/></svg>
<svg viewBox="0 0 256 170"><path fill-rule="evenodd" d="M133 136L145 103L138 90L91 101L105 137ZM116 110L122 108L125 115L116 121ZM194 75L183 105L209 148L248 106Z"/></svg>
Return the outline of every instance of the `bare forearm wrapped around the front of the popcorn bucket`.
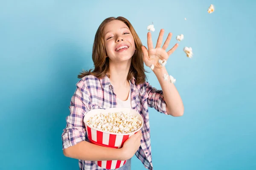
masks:
<svg viewBox="0 0 256 170"><path fill-rule="evenodd" d="M86 141L64 149L63 153L67 157L86 161L126 160L122 149L103 147Z"/></svg>

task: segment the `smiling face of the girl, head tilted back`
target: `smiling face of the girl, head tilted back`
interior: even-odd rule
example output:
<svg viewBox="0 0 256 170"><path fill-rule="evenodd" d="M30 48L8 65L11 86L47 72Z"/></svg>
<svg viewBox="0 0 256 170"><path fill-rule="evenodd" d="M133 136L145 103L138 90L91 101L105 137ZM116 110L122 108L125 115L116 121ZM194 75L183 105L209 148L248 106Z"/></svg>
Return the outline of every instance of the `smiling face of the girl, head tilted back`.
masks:
<svg viewBox="0 0 256 170"><path fill-rule="evenodd" d="M128 26L122 21L113 20L106 24L104 42L107 51L106 57L112 61L127 61L134 55L134 37Z"/></svg>

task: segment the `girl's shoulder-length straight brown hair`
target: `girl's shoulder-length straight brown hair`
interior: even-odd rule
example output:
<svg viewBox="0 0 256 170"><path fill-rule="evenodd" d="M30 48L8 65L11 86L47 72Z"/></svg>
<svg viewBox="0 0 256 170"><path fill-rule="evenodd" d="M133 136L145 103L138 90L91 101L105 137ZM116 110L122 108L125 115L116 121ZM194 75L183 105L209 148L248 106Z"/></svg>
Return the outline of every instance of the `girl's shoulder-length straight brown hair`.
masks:
<svg viewBox="0 0 256 170"><path fill-rule="evenodd" d="M89 71L82 71L78 75L78 78L82 78L87 75L93 75L97 78L105 77L107 71L109 69L109 58L107 56L107 52L105 49L104 44L104 27L107 23L113 20L120 20L124 22L131 31L131 34L134 37L134 44L136 51L131 59L131 66L128 72L127 80L130 80L132 77L136 79L136 84L142 84L147 79L143 65L143 52L142 52L142 42L140 41L139 36L137 35L136 31L134 30L131 23L124 17L108 17L106 18L99 26L98 30L96 31L94 42L93 42L93 63L94 63L94 70L90 69ZM109 75L108 75L109 76Z"/></svg>

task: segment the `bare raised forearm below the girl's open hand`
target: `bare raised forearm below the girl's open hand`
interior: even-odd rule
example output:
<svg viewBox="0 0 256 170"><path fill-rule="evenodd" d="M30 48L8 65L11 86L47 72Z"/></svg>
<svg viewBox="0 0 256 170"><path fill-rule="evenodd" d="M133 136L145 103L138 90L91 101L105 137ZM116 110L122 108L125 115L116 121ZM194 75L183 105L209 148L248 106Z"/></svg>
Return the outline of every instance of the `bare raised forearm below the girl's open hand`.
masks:
<svg viewBox="0 0 256 170"><path fill-rule="evenodd" d="M166 112L172 116L182 116L184 112L183 102L180 95L173 83L170 83L170 77L168 76L167 81L163 79L163 75L169 75L166 68L154 69L162 91L164 100L166 102Z"/></svg>

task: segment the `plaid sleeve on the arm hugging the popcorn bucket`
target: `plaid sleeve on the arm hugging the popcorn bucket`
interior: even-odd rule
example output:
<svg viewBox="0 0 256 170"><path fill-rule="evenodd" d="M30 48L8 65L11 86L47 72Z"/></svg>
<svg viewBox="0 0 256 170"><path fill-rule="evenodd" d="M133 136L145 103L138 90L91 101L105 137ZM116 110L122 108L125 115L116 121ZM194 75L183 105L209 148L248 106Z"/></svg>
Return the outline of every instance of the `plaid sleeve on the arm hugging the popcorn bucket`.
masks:
<svg viewBox="0 0 256 170"><path fill-rule="evenodd" d="M87 94L87 86L81 79L76 84L76 91L70 102L70 114L67 116L67 126L62 133L62 149L73 146L85 140L84 114L90 108L90 96Z"/></svg>

